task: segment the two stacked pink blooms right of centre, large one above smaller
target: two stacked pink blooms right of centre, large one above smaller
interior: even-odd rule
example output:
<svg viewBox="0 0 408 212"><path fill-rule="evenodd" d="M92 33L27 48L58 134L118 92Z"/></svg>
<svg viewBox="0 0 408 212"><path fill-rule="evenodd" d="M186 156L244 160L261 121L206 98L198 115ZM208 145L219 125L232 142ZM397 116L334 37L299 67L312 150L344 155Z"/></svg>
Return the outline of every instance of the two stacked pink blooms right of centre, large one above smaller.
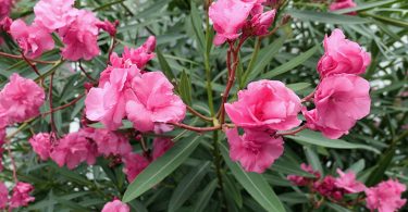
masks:
<svg viewBox="0 0 408 212"><path fill-rule="evenodd" d="M299 97L283 83L250 83L236 102L225 104L231 121L245 132L240 137L237 128L226 130L231 159L247 172L264 172L283 153L283 140L274 134L299 126L300 109Z"/></svg>

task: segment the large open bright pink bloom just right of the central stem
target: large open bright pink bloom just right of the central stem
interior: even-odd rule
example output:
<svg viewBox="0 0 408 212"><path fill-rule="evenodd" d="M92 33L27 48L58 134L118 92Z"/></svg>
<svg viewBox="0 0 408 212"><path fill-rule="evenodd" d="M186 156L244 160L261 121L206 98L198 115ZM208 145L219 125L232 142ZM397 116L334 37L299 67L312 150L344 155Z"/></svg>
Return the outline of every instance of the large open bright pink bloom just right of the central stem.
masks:
<svg viewBox="0 0 408 212"><path fill-rule="evenodd" d="M277 80L259 80L238 91L238 101L225 104L231 121L246 128L287 130L299 126L300 99Z"/></svg>

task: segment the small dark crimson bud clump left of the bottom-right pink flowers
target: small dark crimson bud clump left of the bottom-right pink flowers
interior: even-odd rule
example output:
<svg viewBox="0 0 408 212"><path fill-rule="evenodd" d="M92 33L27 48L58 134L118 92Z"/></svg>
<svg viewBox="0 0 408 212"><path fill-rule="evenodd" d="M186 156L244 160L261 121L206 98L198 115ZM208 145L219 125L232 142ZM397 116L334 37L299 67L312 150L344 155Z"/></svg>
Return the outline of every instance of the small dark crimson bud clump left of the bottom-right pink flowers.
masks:
<svg viewBox="0 0 408 212"><path fill-rule="evenodd" d="M313 184L313 188L324 197L330 197L335 200L343 199L344 196L344 189L336 186L336 179L333 176L325 176L323 180L316 182Z"/></svg>

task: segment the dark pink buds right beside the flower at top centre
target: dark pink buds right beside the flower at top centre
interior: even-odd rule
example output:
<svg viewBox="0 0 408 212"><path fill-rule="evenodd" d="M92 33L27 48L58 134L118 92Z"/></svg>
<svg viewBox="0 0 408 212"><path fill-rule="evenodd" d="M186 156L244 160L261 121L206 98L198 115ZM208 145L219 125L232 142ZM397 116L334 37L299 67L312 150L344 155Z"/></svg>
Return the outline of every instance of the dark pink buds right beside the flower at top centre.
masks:
<svg viewBox="0 0 408 212"><path fill-rule="evenodd" d="M263 36L269 33L268 28L272 25L275 18L276 10L271 10L264 13L259 13L252 16L244 26L244 35L247 36Z"/></svg>

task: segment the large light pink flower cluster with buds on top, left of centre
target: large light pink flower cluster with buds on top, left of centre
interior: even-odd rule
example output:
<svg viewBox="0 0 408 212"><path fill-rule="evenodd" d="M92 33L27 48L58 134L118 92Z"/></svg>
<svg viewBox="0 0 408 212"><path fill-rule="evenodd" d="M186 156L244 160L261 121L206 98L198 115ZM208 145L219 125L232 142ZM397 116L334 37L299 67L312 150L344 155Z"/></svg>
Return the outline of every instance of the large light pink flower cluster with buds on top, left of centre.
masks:
<svg viewBox="0 0 408 212"><path fill-rule="evenodd" d="M122 58L112 54L111 66L85 100L90 121L115 130L127 117L139 132L163 133L173 128L168 123L184 120L186 105L164 74L140 71L154 57L154 37L149 37L138 49L125 48Z"/></svg>

